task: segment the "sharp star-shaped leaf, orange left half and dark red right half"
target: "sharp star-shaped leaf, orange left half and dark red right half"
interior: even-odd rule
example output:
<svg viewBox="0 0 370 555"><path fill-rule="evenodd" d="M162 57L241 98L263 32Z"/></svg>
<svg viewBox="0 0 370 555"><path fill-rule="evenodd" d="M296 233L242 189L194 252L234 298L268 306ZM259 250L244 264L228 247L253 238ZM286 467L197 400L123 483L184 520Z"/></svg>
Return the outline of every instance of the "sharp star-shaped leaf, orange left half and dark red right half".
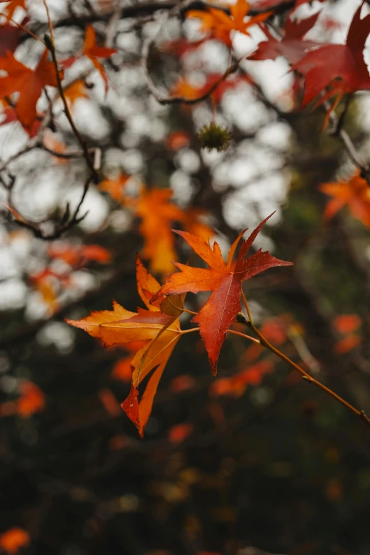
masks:
<svg viewBox="0 0 370 555"><path fill-rule="evenodd" d="M208 359L214 375L217 373L218 356L226 332L241 310L242 281L274 266L290 266L292 264L276 259L269 252L262 252L262 250L258 250L251 257L245 259L254 239L262 226L271 218L271 215L257 226L247 240L242 242L237 260L232 262L237 245L245 230L237 237L237 240L230 247L226 264L223 261L217 242L214 243L212 249L206 241L196 237L196 235L175 230L178 235L186 240L194 252L208 264L209 268L194 268L174 262L174 265L180 271L169 276L168 281L153 296L151 301L154 302L161 296L174 293L212 291L206 304L191 321L199 325L199 331L206 344Z"/></svg>

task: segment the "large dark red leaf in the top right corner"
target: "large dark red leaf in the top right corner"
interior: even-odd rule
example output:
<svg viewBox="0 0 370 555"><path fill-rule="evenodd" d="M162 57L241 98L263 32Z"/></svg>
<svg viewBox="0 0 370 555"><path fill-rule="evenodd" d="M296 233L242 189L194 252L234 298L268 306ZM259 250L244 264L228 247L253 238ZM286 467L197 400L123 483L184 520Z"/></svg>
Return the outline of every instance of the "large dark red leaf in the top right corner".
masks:
<svg viewBox="0 0 370 555"><path fill-rule="evenodd" d="M370 14L361 19L361 9L365 3L364 0L354 13L344 45L324 44L315 47L293 65L292 69L305 77L302 106L307 106L329 84L331 90L320 99L317 106L334 94L340 99L345 93L370 88L369 71L363 54L370 22ZM327 60L330 60L330 64Z"/></svg>

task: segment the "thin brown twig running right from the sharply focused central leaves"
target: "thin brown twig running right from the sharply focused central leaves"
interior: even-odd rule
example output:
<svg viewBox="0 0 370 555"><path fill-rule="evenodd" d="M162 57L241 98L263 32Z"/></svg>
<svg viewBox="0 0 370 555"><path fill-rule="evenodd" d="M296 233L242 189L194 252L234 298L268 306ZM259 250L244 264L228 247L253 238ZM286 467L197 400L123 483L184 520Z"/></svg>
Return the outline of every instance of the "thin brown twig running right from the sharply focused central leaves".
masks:
<svg viewBox="0 0 370 555"><path fill-rule="evenodd" d="M327 395L331 396L332 398L334 398L335 400L337 400L339 403L341 403L342 405L344 405L344 407L346 407L348 410L351 410L352 413L354 413L355 415L359 416L361 418L361 420L364 420L364 422L366 422L366 424L370 425L370 419L369 417L366 415L364 410L358 410L357 408L354 408L354 406L352 406L350 403L348 403L346 400L344 400L342 397L340 397L339 395L337 395L337 393L335 393L334 391L332 391L330 388L328 388L327 386L324 386L323 383L321 383L318 380L315 380L315 378L313 378L312 376L310 376L310 374L308 374L308 372L306 372L305 370L303 370L303 368L301 368L301 366L298 366L298 364L296 364L295 362L293 362L293 360L289 359L289 357L286 357L286 355L284 353L282 353L281 351L279 351L279 349L276 349L276 347L274 347L274 345L271 345L271 343L269 341L267 341L267 339L264 337L264 335L262 335L262 333L257 329L257 327L254 325L253 320L250 316L250 308L248 307L248 303L247 303L247 299L245 298L245 294L242 291L242 300L243 303L245 304L245 308L247 310L248 313L248 318L249 321L247 319L245 319L244 321L242 321L242 318L240 318L238 320L238 322L240 323L244 323L245 325L247 325L248 327L250 327L254 333L257 335L257 337L259 337L259 342L260 344L262 344L263 347L266 347L266 349L269 349L271 352L273 352L274 354L276 354L277 357L279 357L281 360L284 360L287 364L289 364L290 366L293 367L293 369L295 369L296 371L299 372L299 374L301 374L302 378L305 379L306 381L310 382L313 384L313 386L318 387L319 389L322 389L323 391L325 391L325 393L327 393Z"/></svg>

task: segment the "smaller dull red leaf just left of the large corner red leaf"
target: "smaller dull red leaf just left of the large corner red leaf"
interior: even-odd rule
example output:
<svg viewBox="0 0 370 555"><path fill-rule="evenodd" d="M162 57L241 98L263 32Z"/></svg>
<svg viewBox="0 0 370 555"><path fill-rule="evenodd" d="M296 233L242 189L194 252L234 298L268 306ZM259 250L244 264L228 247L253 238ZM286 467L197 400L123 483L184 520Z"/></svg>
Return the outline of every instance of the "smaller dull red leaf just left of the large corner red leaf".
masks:
<svg viewBox="0 0 370 555"><path fill-rule="evenodd" d="M304 35L313 28L319 15L320 12L315 13L299 23L292 21L290 18L287 19L281 40L276 40L267 29L264 30L268 40L259 43L256 52L248 56L248 60L276 60L277 57L284 56L291 63L298 62L305 50L319 44L313 40L302 40Z"/></svg>

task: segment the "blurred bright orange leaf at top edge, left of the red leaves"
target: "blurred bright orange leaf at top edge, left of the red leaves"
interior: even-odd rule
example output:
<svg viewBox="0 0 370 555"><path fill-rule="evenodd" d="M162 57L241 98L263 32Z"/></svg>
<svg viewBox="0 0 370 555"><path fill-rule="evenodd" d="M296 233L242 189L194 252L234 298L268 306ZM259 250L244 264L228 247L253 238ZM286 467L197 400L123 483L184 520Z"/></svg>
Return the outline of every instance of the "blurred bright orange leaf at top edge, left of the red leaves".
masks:
<svg viewBox="0 0 370 555"><path fill-rule="evenodd" d="M196 17L201 19L201 30L212 33L215 38L229 44L230 33L239 31L245 35L249 35L248 28L262 23L271 16L272 11L259 13L259 15L250 17L245 21L245 17L250 11L250 3L246 0L237 0L236 4L230 6L230 16L223 9L207 8L207 11L190 10L186 15L188 17Z"/></svg>

